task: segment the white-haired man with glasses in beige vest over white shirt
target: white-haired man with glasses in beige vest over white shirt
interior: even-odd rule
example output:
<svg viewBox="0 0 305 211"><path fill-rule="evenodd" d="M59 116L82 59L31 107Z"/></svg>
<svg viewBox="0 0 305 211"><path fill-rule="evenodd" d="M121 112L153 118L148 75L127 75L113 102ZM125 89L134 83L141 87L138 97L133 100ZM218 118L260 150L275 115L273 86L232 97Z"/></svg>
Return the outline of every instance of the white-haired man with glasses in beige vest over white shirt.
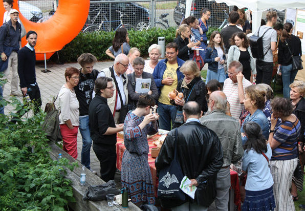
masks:
<svg viewBox="0 0 305 211"><path fill-rule="evenodd" d="M107 102L111 112L113 113L116 124L124 123L124 119L127 114L128 79L125 72L128 69L128 64L128 57L125 54L120 53L116 56L114 65L112 67L103 69L97 76L97 78L108 77L113 79L115 94L111 98L108 98Z"/></svg>

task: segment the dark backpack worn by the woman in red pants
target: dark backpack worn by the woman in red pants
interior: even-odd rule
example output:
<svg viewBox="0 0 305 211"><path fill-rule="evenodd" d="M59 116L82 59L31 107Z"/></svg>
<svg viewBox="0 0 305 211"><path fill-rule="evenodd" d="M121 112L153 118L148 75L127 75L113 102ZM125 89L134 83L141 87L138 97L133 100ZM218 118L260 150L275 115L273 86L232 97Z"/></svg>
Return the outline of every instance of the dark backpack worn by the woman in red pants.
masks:
<svg viewBox="0 0 305 211"><path fill-rule="evenodd" d="M47 113L47 116L42 124L42 130L46 132L47 138L53 142L62 140L59 128L59 112L54 104L56 99L54 99L53 96L52 102L46 104L45 112Z"/></svg>

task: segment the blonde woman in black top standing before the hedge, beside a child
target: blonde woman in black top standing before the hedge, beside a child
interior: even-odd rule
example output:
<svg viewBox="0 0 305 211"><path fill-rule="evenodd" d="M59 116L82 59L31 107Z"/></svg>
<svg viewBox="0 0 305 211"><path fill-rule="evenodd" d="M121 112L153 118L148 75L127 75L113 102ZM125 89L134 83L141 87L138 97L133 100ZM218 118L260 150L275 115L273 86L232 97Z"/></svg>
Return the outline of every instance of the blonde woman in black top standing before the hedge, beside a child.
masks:
<svg viewBox="0 0 305 211"><path fill-rule="evenodd" d="M178 46L178 57L182 60L189 60L189 54L192 52L190 48L194 47L194 43L189 42L190 28L187 24L181 24L176 30L176 38L173 40Z"/></svg>

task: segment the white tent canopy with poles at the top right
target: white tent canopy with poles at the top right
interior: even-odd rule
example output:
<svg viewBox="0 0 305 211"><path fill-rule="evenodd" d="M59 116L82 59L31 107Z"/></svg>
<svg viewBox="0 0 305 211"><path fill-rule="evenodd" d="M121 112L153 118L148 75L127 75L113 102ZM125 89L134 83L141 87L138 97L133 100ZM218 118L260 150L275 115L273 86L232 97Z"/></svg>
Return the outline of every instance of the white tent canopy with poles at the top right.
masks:
<svg viewBox="0 0 305 211"><path fill-rule="evenodd" d="M208 0L212 1L212 0ZM262 12L274 8L285 10L287 8L305 8L305 0L215 0L217 3L226 3L228 6L236 5L238 8L247 7L252 11L252 29L253 32L260 26ZM186 0L185 17L190 14L192 0Z"/></svg>

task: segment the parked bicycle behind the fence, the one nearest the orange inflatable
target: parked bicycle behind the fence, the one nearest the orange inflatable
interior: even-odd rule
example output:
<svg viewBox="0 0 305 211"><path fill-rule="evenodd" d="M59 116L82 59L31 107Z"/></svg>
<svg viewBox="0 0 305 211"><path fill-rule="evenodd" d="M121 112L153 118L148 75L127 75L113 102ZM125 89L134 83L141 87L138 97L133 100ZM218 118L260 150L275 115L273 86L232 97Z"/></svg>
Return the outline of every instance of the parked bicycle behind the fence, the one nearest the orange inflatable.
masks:
<svg viewBox="0 0 305 211"><path fill-rule="evenodd" d="M120 24L117 26L117 28L114 31L117 31L121 27L125 27L126 29L135 29L135 27L130 24L123 24L123 17L127 16L125 13L122 13L119 10L116 10L116 12L120 13ZM97 16L98 15L96 15L96 17ZM95 19L96 19L96 17L95 17ZM101 23L99 25L88 26L83 30L83 33L98 32L100 30L108 31L108 32L111 31L110 23L118 22L118 20L107 20L105 13L103 14L103 17L104 17L104 19L102 18ZM95 21L95 19L94 19L94 21Z"/></svg>

